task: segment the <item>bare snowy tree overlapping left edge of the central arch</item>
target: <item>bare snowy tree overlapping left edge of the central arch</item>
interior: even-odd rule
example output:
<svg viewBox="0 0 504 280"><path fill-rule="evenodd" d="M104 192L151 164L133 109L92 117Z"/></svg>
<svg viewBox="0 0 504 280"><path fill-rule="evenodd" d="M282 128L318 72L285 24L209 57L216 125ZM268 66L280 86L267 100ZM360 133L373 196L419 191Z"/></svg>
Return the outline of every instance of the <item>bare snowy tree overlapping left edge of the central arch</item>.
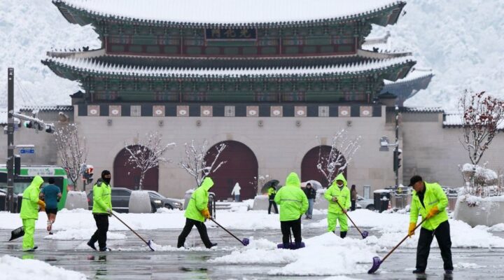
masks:
<svg viewBox="0 0 504 280"><path fill-rule="evenodd" d="M195 144L194 140L190 141L190 144L184 144L186 146L186 157L179 162L179 166L186 170L190 176L196 181L197 186L200 186L203 179L208 176L211 172L216 172L225 164L225 160L220 161L219 156L226 148L226 144L221 143L215 146L214 150L207 152L207 139L204 139L203 144ZM209 154L209 159L213 160L207 162L205 156Z"/></svg>

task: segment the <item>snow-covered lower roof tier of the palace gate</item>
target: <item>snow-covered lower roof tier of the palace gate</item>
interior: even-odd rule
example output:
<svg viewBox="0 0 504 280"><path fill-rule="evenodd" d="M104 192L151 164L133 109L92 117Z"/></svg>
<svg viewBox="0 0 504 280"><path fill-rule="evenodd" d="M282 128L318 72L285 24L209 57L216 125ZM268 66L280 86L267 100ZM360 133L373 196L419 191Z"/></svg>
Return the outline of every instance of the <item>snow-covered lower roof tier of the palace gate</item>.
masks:
<svg viewBox="0 0 504 280"><path fill-rule="evenodd" d="M53 68L61 66L84 73L98 75L120 75L138 77L172 77L172 78L241 78L241 77L292 77L292 76L327 76L360 74L383 71L396 66L407 66L407 71L414 65L412 57L394 57L373 61L302 67L254 67L254 68L202 68L187 67L146 67L125 66L97 62L95 59L74 59L71 57L47 57L43 63ZM55 69L53 69L55 71ZM405 76L404 72L399 78Z"/></svg>

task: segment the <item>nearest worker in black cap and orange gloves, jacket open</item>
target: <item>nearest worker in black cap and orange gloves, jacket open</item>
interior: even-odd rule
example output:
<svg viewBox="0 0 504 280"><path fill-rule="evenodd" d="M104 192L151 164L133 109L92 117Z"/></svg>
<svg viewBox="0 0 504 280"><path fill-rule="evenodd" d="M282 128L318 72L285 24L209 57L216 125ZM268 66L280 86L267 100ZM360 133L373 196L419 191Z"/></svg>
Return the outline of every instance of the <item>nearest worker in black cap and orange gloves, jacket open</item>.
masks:
<svg viewBox="0 0 504 280"><path fill-rule="evenodd" d="M438 183L426 183L418 175L412 176L409 180L409 186L414 189L409 209L409 237L414 235L419 214L422 216L422 220L426 220L421 226L419 242L416 246L416 269L413 273L425 273L430 244L435 236L444 263L444 273L452 274L451 238L446 211L448 198Z"/></svg>

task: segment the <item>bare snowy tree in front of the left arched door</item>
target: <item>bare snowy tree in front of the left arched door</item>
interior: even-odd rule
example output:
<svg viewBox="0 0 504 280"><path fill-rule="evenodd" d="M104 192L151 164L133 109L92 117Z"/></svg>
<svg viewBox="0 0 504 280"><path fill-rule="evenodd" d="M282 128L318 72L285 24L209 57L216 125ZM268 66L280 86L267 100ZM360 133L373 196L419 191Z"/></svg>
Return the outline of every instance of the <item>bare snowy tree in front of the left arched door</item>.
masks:
<svg viewBox="0 0 504 280"><path fill-rule="evenodd" d="M175 146L174 143L162 144L162 135L158 132L146 134L146 138L136 144L125 144L125 149L130 153L126 164L140 170L139 190L144 187L144 177L149 169L158 167L161 162L169 162L163 154Z"/></svg>

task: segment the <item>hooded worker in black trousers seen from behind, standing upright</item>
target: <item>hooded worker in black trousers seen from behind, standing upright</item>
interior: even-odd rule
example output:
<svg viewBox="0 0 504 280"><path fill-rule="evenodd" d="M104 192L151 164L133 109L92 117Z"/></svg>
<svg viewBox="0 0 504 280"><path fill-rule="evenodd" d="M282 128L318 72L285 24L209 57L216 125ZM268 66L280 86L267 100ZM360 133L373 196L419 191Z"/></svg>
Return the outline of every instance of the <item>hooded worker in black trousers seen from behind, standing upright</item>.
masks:
<svg viewBox="0 0 504 280"><path fill-rule="evenodd" d="M294 235L295 248L300 248L301 216L308 209L308 199L301 190L301 181L295 172L288 174L286 184L276 192L274 202L280 206L283 248L290 248L290 229Z"/></svg>

